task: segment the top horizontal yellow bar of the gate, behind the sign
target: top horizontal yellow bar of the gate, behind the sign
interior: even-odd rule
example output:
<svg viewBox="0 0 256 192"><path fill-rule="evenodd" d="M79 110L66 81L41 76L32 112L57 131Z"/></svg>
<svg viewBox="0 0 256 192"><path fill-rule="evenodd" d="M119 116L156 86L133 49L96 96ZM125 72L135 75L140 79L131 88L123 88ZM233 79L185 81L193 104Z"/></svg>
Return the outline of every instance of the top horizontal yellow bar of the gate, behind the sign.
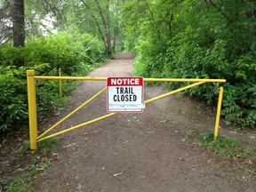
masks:
<svg viewBox="0 0 256 192"><path fill-rule="evenodd" d="M88 80L88 81L106 81L108 77L90 77L90 76L35 76L35 79L56 79L56 80ZM189 78L144 78L145 82L209 82L225 83L226 79L189 79Z"/></svg>

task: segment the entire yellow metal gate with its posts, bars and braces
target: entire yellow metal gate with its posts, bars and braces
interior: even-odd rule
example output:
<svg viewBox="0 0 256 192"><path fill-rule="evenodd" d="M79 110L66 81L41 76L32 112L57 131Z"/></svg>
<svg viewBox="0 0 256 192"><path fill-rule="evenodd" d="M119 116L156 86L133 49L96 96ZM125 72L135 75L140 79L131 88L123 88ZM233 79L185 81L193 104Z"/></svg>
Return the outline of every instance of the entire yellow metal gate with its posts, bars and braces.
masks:
<svg viewBox="0 0 256 192"><path fill-rule="evenodd" d="M76 77L76 76L35 76L35 70L28 70L27 71L27 82L28 82L28 118L29 118L29 139L30 139L30 149L33 152L37 149L37 142L42 140L47 140L52 137L56 137L60 134L63 134L65 132L70 132L73 130L76 130L78 128L84 127L88 124L93 124L97 121L100 121L102 119L108 118L109 116L114 116L116 113L109 113L105 116L100 116L97 118L94 118L90 121L85 122L84 124L78 124L74 127L70 127L64 131L56 132L51 135L45 136L48 132L51 132L54 128L56 128L59 124L64 122L68 119L68 117L73 116L78 110L81 108L84 108L85 105L90 103L92 100L97 98L101 93L106 91L106 87L102 89L100 92L92 96L91 99L86 100L84 104L82 104L80 107L76 108L74 111L72 111L68 116L65 116L62 118L58 123L52 125L48 130L46 130L44 133L38 136L37 134L37 116L36 116L36 79L52 79L52 80L85 80L85 81L107 81L107 77ZM144 78L145 82L190 82L193 84L189 84L187 86L181 87L177 90L174 90L172 92L167 92L162 95L159 95L157 97L154 97L149 100L145 100L144 103L147 104L149 102L153 102L155 100L162 99L164 97L170 96L172 94L175 94L177 92L182 92L184 90L187 90L191 87L195 87L200 84L205 83L225 83L225 79L178 79L178 78ZM60 85L60 95L62 94L61 91L61 85ZM214 140L218 137L219 132L219 124L220 124L220 109L221 109L221 103L222 103L222 96L223 96L223 87L220 87L219 89L219 100L218 100L218 106L217 106L217 115L216 115L216 121L215 121L215 129L214 129Z"/></svg>

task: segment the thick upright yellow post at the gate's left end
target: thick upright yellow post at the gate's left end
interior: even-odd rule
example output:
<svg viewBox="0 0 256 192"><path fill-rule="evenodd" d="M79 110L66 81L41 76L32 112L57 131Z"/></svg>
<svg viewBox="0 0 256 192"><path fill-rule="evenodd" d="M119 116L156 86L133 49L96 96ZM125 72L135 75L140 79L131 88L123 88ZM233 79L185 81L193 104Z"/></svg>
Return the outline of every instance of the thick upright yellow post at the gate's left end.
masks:
<svg viewBox="0 0 256 192"><path fill-rule="evenodd" d="M37 116L36 116L36 84L35 70L27 70L28 83L28 118L31 153L37 149Z"/></svg>

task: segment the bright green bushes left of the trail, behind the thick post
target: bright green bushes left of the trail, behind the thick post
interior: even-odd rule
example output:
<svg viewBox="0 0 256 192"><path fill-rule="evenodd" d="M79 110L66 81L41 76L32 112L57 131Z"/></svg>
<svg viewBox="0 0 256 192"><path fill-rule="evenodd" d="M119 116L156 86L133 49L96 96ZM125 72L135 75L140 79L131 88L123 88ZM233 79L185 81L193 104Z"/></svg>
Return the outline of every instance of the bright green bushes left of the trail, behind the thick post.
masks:
<svg viewBox="0 0 256 192"><path fill-rule="evenodd" d="M14 60L22 59L26 65L15 67ZM103 60L104 47L89 34L71 36L60 33L28 40L27 46L13 48L0 46L0 132L12 133L15 127L28 124L27 69L35 69L38 76L83 76L99 66ZM75 84L63 81L63 93L72 92ZM39 116L53 111L59 113L65 98L59 96L59 82L36 81L37 111ZM42 118L42 117L40 117Z"/></svg>

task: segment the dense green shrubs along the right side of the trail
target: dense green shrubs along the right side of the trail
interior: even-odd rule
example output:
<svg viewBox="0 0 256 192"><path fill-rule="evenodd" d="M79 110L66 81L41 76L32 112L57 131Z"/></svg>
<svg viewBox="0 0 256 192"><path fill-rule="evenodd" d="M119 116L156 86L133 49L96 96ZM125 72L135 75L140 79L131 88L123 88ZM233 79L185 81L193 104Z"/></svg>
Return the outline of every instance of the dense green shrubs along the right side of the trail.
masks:
<svg viewBox="0 0 256 192"><path fill-rule="evenodd" d="M138 76L165 78L224 78L224 98L221 115L227 124L255 127L256 124L256 60L252 53L228 61L225 41L217 40L205 49L188 42L172 44L158 55L148 54L145 44L135 62ZM156 49L156 48L155 48ZM184 84L167 84L177 88ZM218 94L213 84L204 84L186 91L191 96L216 106Z"/></svg>

